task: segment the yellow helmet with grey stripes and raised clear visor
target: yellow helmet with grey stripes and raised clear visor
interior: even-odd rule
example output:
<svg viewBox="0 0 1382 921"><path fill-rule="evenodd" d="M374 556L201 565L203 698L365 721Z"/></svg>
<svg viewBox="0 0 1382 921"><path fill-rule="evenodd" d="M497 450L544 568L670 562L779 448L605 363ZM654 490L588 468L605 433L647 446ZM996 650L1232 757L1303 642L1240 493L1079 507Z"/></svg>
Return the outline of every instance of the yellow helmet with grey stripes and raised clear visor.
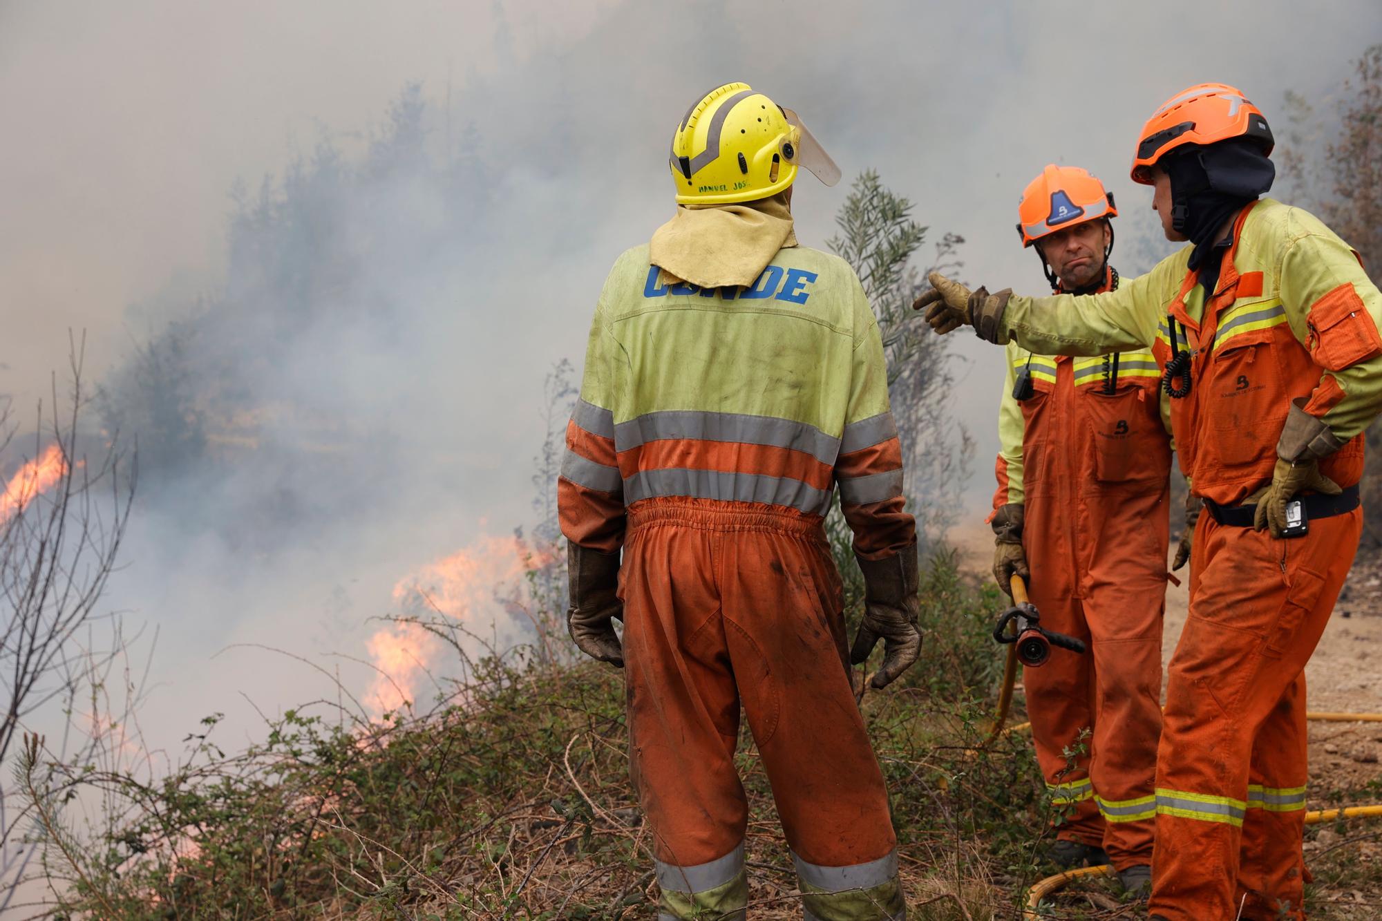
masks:
<svg viewBox="0 0 1382 921"><path fill-rule="evenodd" d="M804 166L826 185L840 169L792 109L726 83L701 97L672 134L672 178L681 205L728 205L777 195Z"/></svg>

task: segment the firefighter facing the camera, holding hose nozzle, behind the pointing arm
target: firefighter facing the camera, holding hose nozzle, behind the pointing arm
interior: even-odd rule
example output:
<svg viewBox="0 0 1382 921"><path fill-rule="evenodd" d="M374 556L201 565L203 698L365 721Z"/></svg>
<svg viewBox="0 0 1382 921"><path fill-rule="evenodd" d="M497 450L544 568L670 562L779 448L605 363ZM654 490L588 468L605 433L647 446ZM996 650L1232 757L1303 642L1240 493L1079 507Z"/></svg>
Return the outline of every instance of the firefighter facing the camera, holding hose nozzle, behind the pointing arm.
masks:
<svg viewBox="0 0 1382 921"><path fill-rule="evenodd" d="M1118 209L1096 177L1048 166L1017 213L1054 292L1118 288L1108 263ZM1147 348L1050 358L1010 342L1006 361L994 578L1005 590L1014 573L1028 579L1042 625L1089 647L1023 672L1036 759L1064 812L1050 856L1064 867L1111 862L1124 888L1144 895L1169 539L1161 372Z"/></svg>

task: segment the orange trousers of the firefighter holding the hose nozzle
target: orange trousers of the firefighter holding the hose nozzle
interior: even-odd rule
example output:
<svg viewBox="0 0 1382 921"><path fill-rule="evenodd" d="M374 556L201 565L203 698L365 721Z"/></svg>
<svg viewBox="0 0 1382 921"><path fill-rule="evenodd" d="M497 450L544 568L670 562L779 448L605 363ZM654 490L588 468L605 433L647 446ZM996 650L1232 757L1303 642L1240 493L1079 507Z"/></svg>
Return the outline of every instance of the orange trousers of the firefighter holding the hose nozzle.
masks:
<svg viewBox="0 0 1382 921"><path fill-rule="evenodd" d="M1023 543L1042 626L1086 642L1023 669L1036 761L1064 820L1056 837L1151 863L1166 488L1030 496ZM1081 743L1081 734L1089 730ZM1085 754L1067 758L1081 745Z"/></svg>

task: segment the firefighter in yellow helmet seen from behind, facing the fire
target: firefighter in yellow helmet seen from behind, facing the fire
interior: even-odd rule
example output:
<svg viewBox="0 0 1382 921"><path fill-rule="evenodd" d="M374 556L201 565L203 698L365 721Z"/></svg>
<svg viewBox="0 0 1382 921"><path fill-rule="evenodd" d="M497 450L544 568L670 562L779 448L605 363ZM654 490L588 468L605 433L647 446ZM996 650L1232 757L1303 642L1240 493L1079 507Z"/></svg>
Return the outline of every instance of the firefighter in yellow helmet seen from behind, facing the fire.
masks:
<svg viewBox="0 0 1382 921"><path fill-rule="evenodd" d="M745 917L741 707L806 917L907 913L850 664L883 640L883 687L918 657L916 528L864 289L793 232L803 166L839 180L748 84L687 109L676 216L611 270L567 429L568 625L625 668L659 918ZM836 488L867 585L853 647L822 527Z"/></svg>

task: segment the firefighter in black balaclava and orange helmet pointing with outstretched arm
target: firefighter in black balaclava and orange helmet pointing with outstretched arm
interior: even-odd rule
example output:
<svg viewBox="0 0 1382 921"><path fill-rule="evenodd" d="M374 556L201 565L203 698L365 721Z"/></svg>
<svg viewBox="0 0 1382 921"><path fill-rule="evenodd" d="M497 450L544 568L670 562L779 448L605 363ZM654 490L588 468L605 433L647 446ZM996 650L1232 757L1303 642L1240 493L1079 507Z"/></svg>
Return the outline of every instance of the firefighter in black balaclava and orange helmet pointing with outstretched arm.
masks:
<svg viewBox="0 0 1382 921"><path fill-rule="evenodd" d="M1166 679L1150 909L1300 918L1305 665L1357 552L1363 430L1382 411L1382 293L1347 243L1270 198L1271 131L1222 83L1166 101L1132 176L1190 245L1117 290L970 292L936 274L937 332L1093 355L1150 346L1193 495L1190 614ZM1240 914L1241 913L1241 914Z"/></svg>

